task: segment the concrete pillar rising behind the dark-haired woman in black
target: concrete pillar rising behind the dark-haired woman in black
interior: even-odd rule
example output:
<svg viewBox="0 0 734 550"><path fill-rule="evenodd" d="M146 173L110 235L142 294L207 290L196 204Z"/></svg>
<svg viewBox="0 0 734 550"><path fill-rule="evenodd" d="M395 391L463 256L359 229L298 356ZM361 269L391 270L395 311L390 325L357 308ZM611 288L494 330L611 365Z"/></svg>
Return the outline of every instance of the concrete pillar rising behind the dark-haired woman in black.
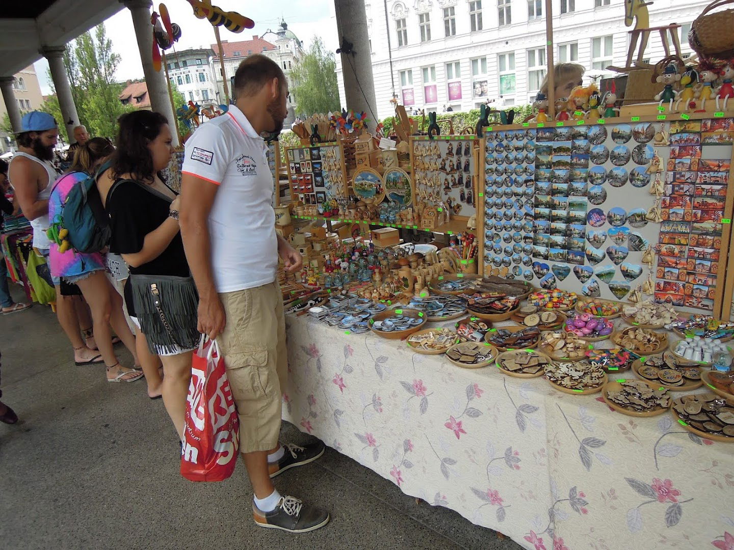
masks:
<svg viewBox="0 0 734 550"><path fill-rule="evenodd" d="M140 62L145 73L145 84L148 86L150 97L150 108L166 117L171 125L173 144L178 145L178 136L175 131L176 117L168 96L168 85L163 70L156 71L153 68L153 26L150 24L151 0L124 0L123 3L130 10L135 27L138 49L140 51Z"/></svg>

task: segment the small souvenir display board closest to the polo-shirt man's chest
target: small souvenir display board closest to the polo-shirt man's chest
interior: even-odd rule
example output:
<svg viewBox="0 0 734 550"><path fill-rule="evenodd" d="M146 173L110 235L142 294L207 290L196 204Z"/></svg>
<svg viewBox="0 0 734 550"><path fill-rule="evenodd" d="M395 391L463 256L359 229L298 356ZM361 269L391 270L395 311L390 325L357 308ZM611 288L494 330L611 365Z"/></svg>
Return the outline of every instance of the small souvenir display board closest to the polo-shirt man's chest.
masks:
<svg viewBox="0 0 734 550"><path fill-rule="evenodd" d="M338 142L286 149L291 198L320 205L345 195L344 153Z"/></svg>

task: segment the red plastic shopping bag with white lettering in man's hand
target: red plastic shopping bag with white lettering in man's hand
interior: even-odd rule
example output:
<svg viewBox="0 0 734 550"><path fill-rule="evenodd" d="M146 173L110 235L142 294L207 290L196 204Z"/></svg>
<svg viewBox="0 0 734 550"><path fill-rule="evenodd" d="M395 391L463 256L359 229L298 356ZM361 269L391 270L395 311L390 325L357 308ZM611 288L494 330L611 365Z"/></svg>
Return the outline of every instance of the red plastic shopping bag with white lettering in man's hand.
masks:
<svg viewBox="0 0 734 550"><path fill-rule="evenodd" d="M237 463L239 418L217 340L204 340L191 365L183 428L181 475L191 481L226 480Z"/></svg>

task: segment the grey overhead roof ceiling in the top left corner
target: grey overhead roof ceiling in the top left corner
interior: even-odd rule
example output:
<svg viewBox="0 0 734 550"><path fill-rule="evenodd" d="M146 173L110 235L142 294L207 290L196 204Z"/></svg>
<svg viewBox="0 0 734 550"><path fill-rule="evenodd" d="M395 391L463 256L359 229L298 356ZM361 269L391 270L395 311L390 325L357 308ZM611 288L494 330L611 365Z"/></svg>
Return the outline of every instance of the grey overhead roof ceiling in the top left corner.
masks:
<svg viewBox="0 0 734 550"><path fill-rule="evenodd" d="M4 2L0 10L0 76L12 76L123 9L119 0Z"/></svg>

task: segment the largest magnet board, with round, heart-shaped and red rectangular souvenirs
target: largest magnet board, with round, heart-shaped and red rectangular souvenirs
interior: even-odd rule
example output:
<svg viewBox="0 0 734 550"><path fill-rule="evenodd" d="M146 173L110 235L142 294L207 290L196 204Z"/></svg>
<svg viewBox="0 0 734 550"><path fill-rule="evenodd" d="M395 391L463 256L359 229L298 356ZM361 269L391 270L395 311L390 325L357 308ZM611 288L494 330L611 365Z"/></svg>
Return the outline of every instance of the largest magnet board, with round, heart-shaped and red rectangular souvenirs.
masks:
<svg viewBox="0 0 734 550"><path fill-rule="evenodd" d="M721 218L731 147L700 145L700 131L685 133L685 148L674 146L680 123L672 123L669 136L670 124L487 133L484 272L622 301L636 289L652 294L653 287L655 298L670 301L675 290L676 305L713 309L713 289L693 296L700 282L715 284L716 262L702 257L721 246L713 217L718 208ZM682 159L680 171L669 169L671 155ZM694 162L695 155L715 160ZM668 272L675 287L661 284Z"/></svg>

